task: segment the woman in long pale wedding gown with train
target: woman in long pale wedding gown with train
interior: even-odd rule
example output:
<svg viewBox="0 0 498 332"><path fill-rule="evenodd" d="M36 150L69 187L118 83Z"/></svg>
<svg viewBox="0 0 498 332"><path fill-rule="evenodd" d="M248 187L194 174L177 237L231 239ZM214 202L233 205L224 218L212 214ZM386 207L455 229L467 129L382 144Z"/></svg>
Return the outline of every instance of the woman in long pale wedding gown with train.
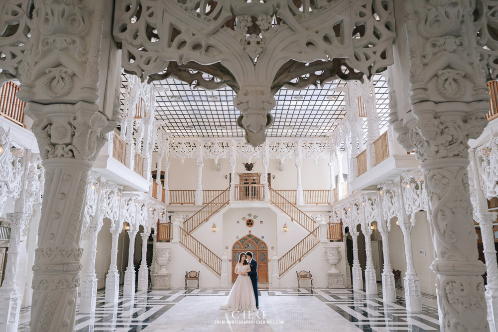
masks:
<svg viewBox="0 0 498 332"><path fill-rule="evenodd" d="M246 254L241 253L239 262L235 266L235 273L239 276L237 277L230 294L228 294L227 302L221 307L222 310L257 311L256 298L254 297L254 291L248 272L250 272L250 267L249 263L246 261Z"/></svg>

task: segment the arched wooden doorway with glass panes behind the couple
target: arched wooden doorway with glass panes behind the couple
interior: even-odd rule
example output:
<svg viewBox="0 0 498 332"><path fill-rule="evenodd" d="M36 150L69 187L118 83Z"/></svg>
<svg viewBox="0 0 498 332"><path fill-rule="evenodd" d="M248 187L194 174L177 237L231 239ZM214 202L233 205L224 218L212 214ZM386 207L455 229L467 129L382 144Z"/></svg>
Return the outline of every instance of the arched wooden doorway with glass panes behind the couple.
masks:
<svg viewBox="0 0 498 332"><path fill-rule="evenodd" d="M232 282L237 279L235 265L239 262L239 256L243 252L250 251L257 262L258 282L268 282L268 246L259 237L247 234L238 239L232 246Z"/></svg>

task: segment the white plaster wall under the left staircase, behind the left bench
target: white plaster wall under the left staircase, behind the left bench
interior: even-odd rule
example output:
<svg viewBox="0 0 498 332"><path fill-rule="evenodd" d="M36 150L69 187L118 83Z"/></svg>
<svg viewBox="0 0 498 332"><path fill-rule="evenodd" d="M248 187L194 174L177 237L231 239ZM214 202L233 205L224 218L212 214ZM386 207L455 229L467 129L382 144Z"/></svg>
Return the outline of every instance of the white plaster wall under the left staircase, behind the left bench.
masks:
<svg viewBox="0 0 498 332"><path fill-rule="evenodd" d="M215 275L211 269L200 264L197 257L190 251L186 250L178 242L158 242L157 248L171 248L171 261L166 265L166 269L171 273L171 288L183 288L185 286L186 271L200 271L199 287L201 288L220 288L220 278ZM156 270L157 271L157 270ZM195 281L189 281L189 287L195 287Z"/></svg>

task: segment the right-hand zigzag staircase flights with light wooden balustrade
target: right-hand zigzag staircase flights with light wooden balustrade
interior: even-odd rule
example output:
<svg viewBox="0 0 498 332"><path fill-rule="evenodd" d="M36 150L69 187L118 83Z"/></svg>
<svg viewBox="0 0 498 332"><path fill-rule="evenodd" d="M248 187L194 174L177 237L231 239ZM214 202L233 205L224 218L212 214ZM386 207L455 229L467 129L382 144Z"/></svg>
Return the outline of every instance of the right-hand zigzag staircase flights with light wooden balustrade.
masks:
<svg viewBox="0 0 498 332"><path fill-rule="evenodd" d="M317 226L313 219L271 188L270 202L289 216L292 221L296 221L309 231L308 235L278 259L278 275L281 277L320 243L320 226Z"/></svg>

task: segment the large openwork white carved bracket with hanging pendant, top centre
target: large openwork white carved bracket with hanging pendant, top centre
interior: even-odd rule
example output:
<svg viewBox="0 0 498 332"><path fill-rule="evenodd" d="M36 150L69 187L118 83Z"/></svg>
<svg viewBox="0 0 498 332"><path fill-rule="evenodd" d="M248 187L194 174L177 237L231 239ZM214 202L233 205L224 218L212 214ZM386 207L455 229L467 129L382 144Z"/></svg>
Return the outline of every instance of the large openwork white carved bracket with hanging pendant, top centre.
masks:
<svg viewBox="0 0 498 332"><path fill-rule="evenodd" d="M252 146L264 142L283 86L362 80L393 62L390 0L136 0L118 4L115 17L126 72L231 87Z"/></svg>

